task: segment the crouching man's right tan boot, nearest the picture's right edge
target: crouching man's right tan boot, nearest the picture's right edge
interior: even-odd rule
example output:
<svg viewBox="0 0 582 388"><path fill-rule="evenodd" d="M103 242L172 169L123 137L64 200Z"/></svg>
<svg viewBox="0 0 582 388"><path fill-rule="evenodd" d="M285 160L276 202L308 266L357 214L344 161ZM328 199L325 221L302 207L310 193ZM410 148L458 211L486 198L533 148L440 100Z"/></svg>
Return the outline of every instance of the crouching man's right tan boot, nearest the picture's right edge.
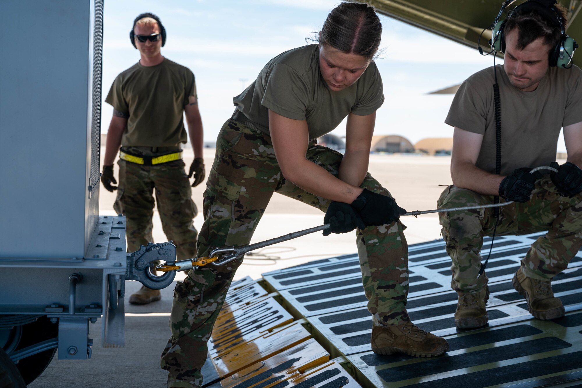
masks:
<svg viewBox="0 0 582 388"><path fill-rule="evenodd" d="M527 277L521 267L513 276L513 288L526 298L527 309L537 319L560 318L566 313L560 298L553 296L550 282Z"/></svg>

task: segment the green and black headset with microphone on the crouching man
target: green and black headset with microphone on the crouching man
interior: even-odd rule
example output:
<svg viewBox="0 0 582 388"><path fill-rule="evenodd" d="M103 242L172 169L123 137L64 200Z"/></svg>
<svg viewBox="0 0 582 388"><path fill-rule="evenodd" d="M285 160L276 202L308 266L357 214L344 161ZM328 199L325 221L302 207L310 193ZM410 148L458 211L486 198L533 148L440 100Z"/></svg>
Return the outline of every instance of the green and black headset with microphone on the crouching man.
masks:
<svg viewBox="0 0 582 388"><path fill-rule="evenodd" d="M516 6L516 8L509 13L507 19L499 20L503 10L513 3L513 1L503 2L501 10L499 10L499 15L497 15L495 19L492 28L493 32L491 41L489 41L491 51L502 52L505 54L505 36L503 34L503 27L505 27L507 19L510 19L510 17L512 17L516 12L528 12L529 10L536 9L542 15L548 17L548 19L555 20L556 26L560 28L560 40L558 41L558 44L549 51L549 65L551 67L558 66L559 68L565 69L572 67L572 57L574 51L578 48L578 44L572 38L567 36L562 15L560 15L558 10L553 6L556 3L556 0L528 0Z"/></svg>

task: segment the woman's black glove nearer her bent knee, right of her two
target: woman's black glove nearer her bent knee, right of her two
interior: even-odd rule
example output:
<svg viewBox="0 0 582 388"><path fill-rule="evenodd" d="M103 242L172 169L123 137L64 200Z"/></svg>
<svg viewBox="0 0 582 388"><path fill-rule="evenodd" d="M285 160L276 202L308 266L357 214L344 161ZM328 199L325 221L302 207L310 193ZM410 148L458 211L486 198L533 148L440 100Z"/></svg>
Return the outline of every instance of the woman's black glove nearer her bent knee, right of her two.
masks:
<svg viewBox="0 0 582 388"><path fill-rule="evenodd" d="M396 204L396 201L387 195L377 194L364 189L359 197L352 202L366 226L379 226L398 221L400 214L406 210Z"/></svg>

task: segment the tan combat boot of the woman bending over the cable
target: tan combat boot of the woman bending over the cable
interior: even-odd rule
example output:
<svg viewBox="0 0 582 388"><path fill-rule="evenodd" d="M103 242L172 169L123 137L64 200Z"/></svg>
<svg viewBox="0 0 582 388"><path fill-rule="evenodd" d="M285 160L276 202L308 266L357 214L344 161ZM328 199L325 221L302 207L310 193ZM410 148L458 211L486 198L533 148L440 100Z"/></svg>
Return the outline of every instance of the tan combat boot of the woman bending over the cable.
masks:
<svg viewBox="0 0 582 388"><path fill-rule="evenodd" d="M449 350L445 338L437 337L402 322L392 326L372 326L372 351L376 354L406 353L413 357L432 357Z"/></svg>

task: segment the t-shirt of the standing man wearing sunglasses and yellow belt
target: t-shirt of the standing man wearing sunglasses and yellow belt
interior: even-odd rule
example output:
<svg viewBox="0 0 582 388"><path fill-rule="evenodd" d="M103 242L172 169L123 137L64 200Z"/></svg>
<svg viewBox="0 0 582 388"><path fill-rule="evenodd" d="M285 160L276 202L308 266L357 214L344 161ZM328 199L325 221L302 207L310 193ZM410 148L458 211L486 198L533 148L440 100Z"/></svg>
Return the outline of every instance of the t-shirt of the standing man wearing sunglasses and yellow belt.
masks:
<svg viewBox="0 0 582 388"><path fill-rule="evenodd" d="M190 69L165 58L155 66L139 62L120 73L105 102L129 114L121 138L125 147L171 147L186 143L184 106L196 97Z"/></svg>

